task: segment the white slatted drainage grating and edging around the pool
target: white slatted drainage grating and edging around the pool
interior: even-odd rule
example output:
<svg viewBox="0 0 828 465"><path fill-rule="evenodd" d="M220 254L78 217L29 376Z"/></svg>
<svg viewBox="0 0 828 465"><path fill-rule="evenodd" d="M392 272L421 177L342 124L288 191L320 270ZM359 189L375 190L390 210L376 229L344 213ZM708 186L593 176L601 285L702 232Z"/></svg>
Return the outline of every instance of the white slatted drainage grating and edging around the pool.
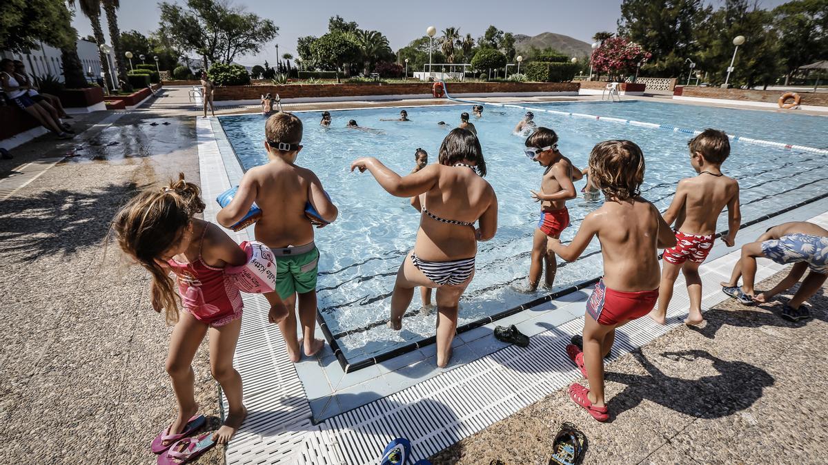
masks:
<svg viewBox="0 0 828 465"><path fill-rule="evenodd" d="M205 199L214 199L230 187L228 169L239 168L224 165L208 118L196 119L196 133L201 188ZM821 211L828 210L826 205L821 203ZM808 207L772 221L790 221L788 217L809 213ZM205 219L214 221L217 210L214 202L208 202ZM828 212L806 218L828 227ZM758 224L740 231L739 242L749 242L762 228ZM243 231L233 237L240 242L250 235ZM720 291L719 281L729 278L738 259L736 249L700 267L703 308L727 299ZM760 259L757 280L783 268ZM551 312L566 309L572 319L533 335L529 348L508 346L313 424L306 388L287 360L277 326L267 324L267 302L261 295L244 295L242 335L233 363L244 380L244 401L250 415L227 448L227 463L376 463L388 441L396 437L412 441L413 458L427 458L580 378L564 347L571 335L580 333L583 316L574 315L583 315L586 296L579 292L553 302ZM679 327L688 307L680 277L672 309L667 313L667 326L644 318L619 328L614 358ZM526 314L530 311L522 312L523 320L532 319L533 315ZM345 376L350 375L353 373ZM386 382L410 381L393 376L394 372L390 375ZM222 403L226 408L226 400Z"/></svg>

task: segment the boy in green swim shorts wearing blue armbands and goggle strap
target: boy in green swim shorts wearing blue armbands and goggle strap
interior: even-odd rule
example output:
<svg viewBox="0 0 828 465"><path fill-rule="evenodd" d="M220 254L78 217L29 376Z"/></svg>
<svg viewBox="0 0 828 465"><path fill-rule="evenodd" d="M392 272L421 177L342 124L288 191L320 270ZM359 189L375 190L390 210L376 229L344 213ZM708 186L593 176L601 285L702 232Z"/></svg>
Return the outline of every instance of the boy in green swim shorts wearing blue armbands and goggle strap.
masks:
<svg viewBox="0 0 828 465"><path fill-rule="evenodd" d="M262 209L262 218L255 228L256 240L272 249L277 262L277 289L265 294L271 304L268 319L279 324L291 362L298 362L301 343L309 357L324 345L324 341L314 337L320 253L314 243L313 224L305 214L306 204L310 202L328 223L336 219L339 211L325 195L314 172L296 165L302 150L301 120L293 113L276 113L267 118L265 137L267 164L244 174L235 197L216 219L229 228L248 213L253 202ZM297 299L302 338L296 336Z"/></svg>

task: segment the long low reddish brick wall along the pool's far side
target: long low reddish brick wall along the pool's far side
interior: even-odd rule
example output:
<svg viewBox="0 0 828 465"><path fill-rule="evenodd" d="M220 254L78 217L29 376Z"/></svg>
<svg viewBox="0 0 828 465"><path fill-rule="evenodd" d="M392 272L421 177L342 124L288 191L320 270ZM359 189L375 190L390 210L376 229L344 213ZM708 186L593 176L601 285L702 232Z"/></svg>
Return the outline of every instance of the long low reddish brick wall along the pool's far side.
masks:
<svg viewBox="0 0 828 465"><path fill-rule="evenodd" d="M258 100L264 93L278 93L281 98L352 97L359 95L430 94L431 83L411 84L286 84L234 85L215 88L215 100ZM448 83L449 92L518 93L578 92L579 83Z"/></svg>

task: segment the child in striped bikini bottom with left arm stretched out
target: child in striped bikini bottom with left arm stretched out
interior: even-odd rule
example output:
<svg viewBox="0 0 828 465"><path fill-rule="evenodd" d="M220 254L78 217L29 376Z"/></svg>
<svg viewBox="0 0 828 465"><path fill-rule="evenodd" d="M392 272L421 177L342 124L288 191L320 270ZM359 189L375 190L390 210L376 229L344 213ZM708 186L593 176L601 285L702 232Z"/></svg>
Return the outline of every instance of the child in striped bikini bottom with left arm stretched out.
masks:
<svg viewBox="0 0 828 465"><path fill-rule="evenodd" d="M477 242L488 241L498 228L498 199L483 179L486 161L471 132L460 128L449 132L440 145L439 161L405 177L374 157L355 160L351 170L368 170L397 197L424 194L414 249L397 271L388 326L402 329L402 315L416 286L436 288L437 366L445 367L457 329L460 296L474 277Z"/></svg>

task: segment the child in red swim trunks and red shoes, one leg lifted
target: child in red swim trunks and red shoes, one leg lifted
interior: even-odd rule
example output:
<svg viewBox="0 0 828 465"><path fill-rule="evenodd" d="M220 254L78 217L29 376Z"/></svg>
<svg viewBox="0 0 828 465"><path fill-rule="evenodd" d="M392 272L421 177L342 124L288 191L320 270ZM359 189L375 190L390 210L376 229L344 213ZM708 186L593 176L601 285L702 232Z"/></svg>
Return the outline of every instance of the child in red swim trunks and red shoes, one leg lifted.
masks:
<svg viewBox="0 0 828 465"><path fill-rule="evenodd" d="M584 315L584 348L570 344L567 355L589 380L569 388L570 399L595 419L606 421L604 357L615 328L648 314L658 298L657 248L676 245L676 236L653 204L641 197L644 156L631 141L599 142L590 154L590 177L606 201L586 215L570 245L550 239L550 248L573 261L597 236L604 257L604 277L595 285Z"/></svg>

